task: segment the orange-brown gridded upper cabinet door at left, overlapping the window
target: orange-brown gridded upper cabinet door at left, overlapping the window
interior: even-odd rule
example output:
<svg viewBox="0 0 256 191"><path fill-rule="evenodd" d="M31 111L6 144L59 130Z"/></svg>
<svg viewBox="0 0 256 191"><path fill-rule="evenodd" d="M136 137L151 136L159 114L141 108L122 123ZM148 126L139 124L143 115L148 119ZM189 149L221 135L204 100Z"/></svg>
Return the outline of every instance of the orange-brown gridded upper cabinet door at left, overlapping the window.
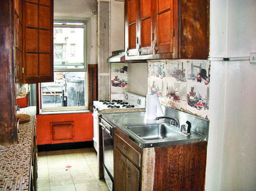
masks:
<svg viewBox="0 0 256 191"><path fill-rule="evenodd" d="M53 81L53 0L23 1L23 82Z"/></svg>

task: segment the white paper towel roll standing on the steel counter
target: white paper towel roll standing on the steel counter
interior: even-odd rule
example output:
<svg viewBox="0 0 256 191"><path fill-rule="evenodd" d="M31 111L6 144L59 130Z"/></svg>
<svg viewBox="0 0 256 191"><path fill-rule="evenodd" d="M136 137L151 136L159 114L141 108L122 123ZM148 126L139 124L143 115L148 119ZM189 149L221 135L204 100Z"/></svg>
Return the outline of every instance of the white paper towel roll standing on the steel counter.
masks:
<svg viewBox="0 0 256 191"><path fill-rule="evenodd" d="M157 117L164 116L161 105L156 94L146 95L146 118L156 119Z"/></svg>

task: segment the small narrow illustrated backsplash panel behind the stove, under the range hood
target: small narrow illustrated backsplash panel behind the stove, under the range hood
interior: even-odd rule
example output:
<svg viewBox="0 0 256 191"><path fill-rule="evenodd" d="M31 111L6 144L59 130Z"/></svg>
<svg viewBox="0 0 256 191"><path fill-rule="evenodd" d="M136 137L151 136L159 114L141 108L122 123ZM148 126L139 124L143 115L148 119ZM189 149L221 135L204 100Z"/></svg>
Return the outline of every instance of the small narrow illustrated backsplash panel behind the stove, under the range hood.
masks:
<svg viewBox="0 0 256 191"><path fill-rule="evenodd" d="M128 64L111 63L111 95L127 92Z"/></svg>

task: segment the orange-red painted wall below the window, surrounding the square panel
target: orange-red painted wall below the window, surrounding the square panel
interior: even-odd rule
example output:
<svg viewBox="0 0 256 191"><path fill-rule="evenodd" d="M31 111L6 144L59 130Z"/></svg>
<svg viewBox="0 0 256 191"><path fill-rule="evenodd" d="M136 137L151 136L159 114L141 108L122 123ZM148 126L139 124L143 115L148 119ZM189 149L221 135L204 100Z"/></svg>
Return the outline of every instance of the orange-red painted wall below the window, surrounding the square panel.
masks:
<svg viewBox="0 0 256 191"><path fill-rule="evenodd" d="M74 142L86 142L93 138L93 117L91 112L81 114L37 115L37 145L51 143L50 123L74 122ZM70 141L68 141L70 142ZM65 143L65 140L54 143Z"/></svg>

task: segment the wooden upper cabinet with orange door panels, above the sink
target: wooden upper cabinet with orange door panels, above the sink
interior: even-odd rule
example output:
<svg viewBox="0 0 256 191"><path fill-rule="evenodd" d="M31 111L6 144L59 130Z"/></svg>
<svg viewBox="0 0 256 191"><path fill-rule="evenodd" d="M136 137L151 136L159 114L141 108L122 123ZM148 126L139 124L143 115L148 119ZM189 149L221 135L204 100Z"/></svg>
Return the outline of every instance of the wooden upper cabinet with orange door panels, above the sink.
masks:
<svg viewBox="0 0 256 191"><path fill-rule="evenodd" d="M210 0L125 0L125 13L126 60L208 58Z"/></svg>

